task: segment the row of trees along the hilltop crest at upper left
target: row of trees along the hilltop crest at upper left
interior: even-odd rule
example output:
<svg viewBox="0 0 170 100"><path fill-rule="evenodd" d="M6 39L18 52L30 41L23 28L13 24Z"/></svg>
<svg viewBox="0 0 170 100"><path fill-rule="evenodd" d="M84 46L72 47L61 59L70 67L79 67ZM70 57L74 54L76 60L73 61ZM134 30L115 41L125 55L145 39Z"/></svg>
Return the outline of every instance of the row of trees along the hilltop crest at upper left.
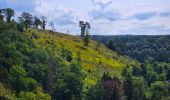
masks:
<svg viewBox="0 0 170 100"><path fill-rule="evenodd" d="M33 16L29 12L23 12L16 20L13 19L15 11L11 8L0 9L0 20L8 23L17 23L19 31L23 32L28 28L42 28L45 30L47 18L45 16Z"/></svg>

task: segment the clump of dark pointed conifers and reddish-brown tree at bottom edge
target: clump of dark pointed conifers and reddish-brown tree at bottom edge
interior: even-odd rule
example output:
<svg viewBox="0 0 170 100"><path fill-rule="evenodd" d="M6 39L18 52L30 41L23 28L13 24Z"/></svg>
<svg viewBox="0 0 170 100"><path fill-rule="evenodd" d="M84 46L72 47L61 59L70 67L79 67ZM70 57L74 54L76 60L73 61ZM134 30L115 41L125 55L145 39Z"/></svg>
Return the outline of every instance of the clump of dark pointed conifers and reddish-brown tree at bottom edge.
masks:
<svg viewBox="0 0 170 100"><path fill-rule="evenodd" d="M88 100L124 100L124 90L117 78L104 73L102 79L88 92Z"/></svg>

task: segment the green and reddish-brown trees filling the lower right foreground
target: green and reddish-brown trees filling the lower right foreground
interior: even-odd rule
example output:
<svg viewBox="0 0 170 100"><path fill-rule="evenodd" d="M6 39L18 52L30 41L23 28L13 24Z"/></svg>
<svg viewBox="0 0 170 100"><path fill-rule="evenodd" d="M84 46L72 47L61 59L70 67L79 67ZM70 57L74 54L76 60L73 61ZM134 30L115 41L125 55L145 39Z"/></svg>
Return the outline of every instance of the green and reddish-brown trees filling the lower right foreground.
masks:
<svg viewBox="0 0 170 100"><path fill-rule="evenodd" d="M169 100L170 64L145 61L140 66L127 66L124 80L105 73L90 88L88 100Z"/></svg>

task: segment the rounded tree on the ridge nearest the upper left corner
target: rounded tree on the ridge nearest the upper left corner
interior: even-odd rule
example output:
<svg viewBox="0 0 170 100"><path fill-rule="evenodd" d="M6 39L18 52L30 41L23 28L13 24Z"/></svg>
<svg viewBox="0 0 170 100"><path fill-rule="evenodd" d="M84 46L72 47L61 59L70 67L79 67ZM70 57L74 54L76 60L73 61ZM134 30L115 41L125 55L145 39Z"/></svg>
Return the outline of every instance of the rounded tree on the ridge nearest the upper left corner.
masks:
<svg viewBox="0 0 170 100"><path fill-rule="evenodd" d="M11 21L11 18L14 16L15 12L13 9L11 8L6 8L6 9L3 9L3 13L6 17L6 20L7 22L10 22Z"/></svg>

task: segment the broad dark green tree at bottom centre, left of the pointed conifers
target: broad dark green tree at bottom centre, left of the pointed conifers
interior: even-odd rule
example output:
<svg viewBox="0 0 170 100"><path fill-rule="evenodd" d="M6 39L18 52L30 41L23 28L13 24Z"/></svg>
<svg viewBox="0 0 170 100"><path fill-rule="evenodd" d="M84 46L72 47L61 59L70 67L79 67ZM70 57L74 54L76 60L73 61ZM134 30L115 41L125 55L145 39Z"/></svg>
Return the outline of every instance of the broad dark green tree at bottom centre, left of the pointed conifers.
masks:
<svg viewBox="0 0 170 100"><path fill-rule="evenodd" d="M63 66L64 67L64 66ZM81 65L71 63L71 65L58 71L60 73L54 83L53 96L57 100L81 100L84 74Z"/></svg>

